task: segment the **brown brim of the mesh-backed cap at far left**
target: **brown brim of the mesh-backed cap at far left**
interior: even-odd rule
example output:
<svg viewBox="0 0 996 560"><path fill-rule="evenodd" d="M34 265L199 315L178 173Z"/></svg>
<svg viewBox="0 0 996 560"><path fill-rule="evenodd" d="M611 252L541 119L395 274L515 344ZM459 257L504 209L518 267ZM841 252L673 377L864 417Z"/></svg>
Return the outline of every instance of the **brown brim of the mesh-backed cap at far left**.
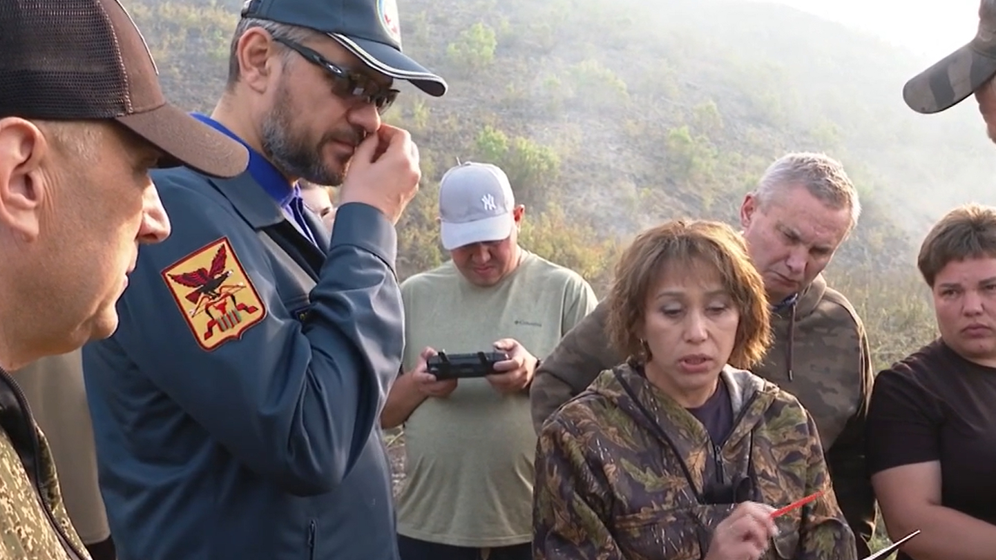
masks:
<svg viewBox="0 0 996 560"><path fill-rule="evenodd" d="M228 178L242 173L249 164L249 151L244 145L170 104L116 121L162 150L165 157L160 167L186 165Z"/></svg>

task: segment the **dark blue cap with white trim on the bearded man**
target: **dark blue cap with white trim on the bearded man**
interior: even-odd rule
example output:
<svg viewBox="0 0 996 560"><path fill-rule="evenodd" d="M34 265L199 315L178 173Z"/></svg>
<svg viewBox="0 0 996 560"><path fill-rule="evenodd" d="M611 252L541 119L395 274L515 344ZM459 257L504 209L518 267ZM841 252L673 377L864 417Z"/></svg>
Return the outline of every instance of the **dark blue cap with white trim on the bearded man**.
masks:
<svg viewBox="0 0 996 560"><path fill-rule="evenodd" d="M395 0L247 0L242 17L325 33L384 76L406 80L433 97L446 93L445 80L401 52Z"/></svg>

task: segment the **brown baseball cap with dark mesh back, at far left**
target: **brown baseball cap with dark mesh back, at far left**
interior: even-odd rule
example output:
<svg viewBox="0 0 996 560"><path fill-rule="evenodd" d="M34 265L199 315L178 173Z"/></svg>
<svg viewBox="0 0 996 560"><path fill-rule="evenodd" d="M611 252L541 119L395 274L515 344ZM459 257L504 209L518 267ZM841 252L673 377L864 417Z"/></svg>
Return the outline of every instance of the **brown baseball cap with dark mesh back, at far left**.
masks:
<svg viewBox="0 0 996 560"><path fill-rule="evenodd" d="M166 102L145 40L118 0L0 1L0 118L114 120L164 154L231 177L246 148Z"/></svg>

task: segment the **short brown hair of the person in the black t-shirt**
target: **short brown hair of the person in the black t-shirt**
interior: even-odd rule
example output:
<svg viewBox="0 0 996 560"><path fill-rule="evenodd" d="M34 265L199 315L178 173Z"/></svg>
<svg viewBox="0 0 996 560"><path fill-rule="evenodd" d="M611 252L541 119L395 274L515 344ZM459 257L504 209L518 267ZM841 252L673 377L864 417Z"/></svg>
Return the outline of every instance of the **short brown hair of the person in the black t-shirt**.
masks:
<svg viewBox="0 0 996 560"><path fill-rule="evenodd" d="M937 220L920 245L916 267L933 288L947 263L981 257L996 258L996 208L973 202Z"/></svg>

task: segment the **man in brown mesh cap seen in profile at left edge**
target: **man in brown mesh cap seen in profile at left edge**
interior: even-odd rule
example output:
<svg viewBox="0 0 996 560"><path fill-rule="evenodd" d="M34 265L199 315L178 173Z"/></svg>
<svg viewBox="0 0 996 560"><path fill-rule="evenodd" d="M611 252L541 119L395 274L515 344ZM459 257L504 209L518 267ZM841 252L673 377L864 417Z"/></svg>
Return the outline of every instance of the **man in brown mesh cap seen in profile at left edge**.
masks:
<svg viewBox="0 0 996 560"><path fill-rule="evenodd" d="M5 370L115 331L138 245L169 235L149 168L247 152L166 103L117 0L5 0L0 53L0 558L87 559Z"/></svg>

